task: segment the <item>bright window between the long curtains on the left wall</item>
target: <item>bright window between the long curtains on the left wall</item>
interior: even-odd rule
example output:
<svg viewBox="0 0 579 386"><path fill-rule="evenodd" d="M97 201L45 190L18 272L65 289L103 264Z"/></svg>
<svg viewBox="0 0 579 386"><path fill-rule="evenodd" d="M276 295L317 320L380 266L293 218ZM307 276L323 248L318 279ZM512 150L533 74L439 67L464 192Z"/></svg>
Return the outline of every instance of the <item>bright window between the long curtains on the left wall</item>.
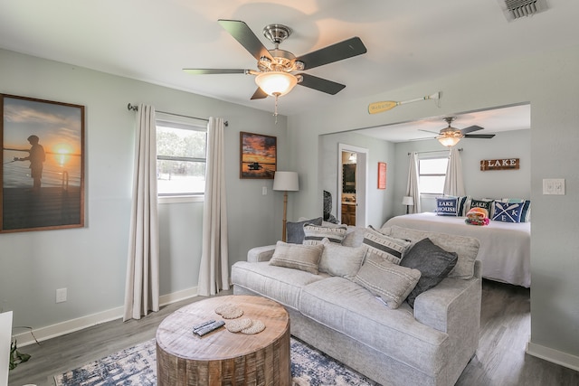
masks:
<svg viewBox="0 0 579 386"><path fill-rule="evenodd" d="M203 195L207 125L202 120L157 113L157 193Z"/></svg>

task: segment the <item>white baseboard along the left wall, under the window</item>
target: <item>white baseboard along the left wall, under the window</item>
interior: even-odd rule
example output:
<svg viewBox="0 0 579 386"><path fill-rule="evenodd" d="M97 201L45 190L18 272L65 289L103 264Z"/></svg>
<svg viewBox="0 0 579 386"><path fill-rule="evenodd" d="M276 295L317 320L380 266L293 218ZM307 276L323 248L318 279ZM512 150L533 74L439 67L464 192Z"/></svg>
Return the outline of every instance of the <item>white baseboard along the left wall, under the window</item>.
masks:
<svg viewBox="0 0 579 386"><path fill-rule="evenodd" d="M197 296L197 287L187 288L171 294L159 297L159 306L166 306L191 297ZM56 325L47 325L45 327L33 329L33 334L38 342L55 338L64 334L70 334L93 325L101 325L111 320L123 317L123 307L116 307L97 314L81 316L76 319L67 320ZM34 336L30 331L21 334L15 334L14 338L18 341L18 347L35 343Z"/></svg>

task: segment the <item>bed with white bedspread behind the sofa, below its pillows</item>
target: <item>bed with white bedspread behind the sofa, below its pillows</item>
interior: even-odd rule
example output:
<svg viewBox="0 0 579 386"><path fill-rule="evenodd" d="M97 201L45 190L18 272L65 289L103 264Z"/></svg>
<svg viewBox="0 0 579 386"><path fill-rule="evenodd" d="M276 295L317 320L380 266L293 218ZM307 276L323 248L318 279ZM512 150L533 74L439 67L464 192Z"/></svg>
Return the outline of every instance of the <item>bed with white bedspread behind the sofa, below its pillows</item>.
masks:
<svg viewBox="0 0 579 386"><path fill-rule="evenodd" d="M482 277L522 287L531 286L530 222L490 221L486 226L467 225L465 217L437 216L433 212L396 216L384 227L397 225L421 231L470 236L480 241L478 259Z"/></svg>

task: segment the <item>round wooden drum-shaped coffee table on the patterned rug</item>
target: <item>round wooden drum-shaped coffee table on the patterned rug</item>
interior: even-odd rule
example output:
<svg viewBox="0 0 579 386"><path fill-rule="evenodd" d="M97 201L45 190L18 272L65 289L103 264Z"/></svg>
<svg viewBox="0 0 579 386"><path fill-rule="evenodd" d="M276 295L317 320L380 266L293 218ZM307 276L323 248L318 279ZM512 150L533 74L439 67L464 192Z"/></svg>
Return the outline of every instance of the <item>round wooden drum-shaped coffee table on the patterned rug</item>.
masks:
<svg viewBox="0 0 579 386"><path fill-rule="evenodd" d="M224 304L242 308L242 318L261 320L265 329L193 334L193 326L207 320L237 320L215 314ZM157 328L158 385L289 385L289 365L289 315L265 297L209 297L178 309Z"/></svg>

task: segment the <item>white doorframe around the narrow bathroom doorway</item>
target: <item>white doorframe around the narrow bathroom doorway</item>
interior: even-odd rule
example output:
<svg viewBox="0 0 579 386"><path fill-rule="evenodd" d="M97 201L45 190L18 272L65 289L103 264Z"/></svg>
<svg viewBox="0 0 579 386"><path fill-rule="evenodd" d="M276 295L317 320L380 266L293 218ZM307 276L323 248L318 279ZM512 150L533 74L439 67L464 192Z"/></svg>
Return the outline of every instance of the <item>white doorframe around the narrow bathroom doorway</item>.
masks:
<svg viewBox="0 0 579 386"><path fill-rule="evenodd" d="M342 219L342 153L356 153L356 226L366 227L368 149L365 147L337 144L337 219Z"/></svg>

